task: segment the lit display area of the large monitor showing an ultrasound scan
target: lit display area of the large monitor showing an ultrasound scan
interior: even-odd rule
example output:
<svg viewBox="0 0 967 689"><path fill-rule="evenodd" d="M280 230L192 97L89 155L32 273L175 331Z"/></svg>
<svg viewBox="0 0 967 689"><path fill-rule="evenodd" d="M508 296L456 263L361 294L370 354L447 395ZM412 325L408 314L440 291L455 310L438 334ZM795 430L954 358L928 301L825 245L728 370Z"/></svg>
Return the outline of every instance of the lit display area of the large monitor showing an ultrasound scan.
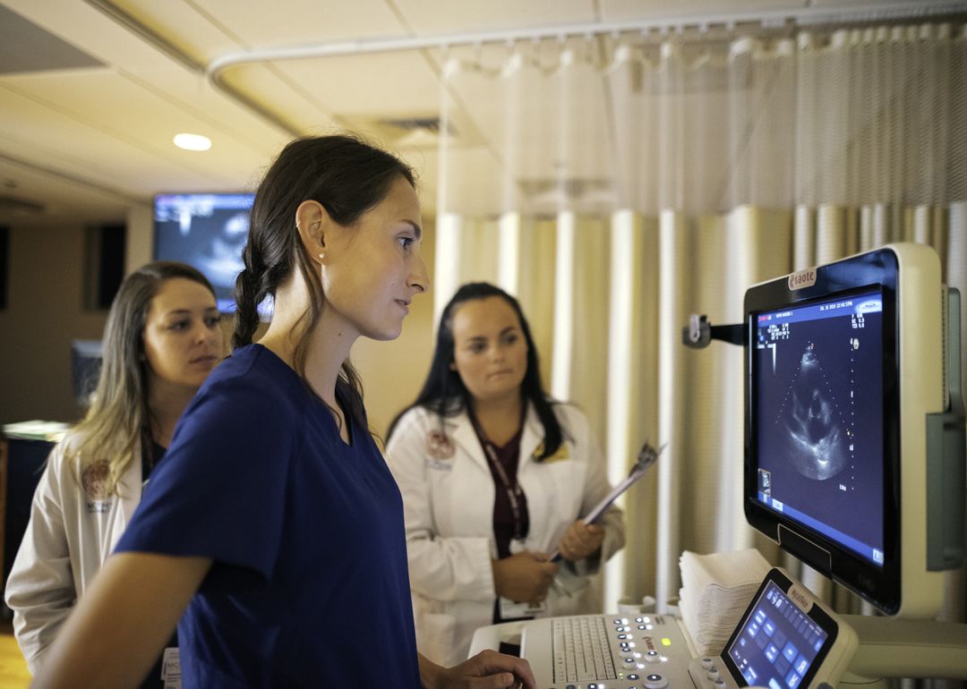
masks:
<svg viewBox="0 0 967 689"><path fill-rule="evenodd" d="M882 564L880 291L752 317L759 501Z"/></svg>

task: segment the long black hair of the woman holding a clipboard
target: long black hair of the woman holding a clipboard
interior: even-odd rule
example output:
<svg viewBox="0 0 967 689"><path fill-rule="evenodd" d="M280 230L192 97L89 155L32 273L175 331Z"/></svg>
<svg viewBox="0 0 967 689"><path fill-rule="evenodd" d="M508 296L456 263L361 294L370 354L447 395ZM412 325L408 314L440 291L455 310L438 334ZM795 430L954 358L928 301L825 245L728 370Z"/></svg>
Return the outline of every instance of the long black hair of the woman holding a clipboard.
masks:
<svg viewBox="0 0 967 689"><path fill-rule="evenodd" d="M517 314L520 322L520 330L524 333L524 340L527 342L527 372L524 380L520 384L521 396L525 401L534 405L534 411L544 429L543 451L538 460L545 459L554 454L561 443L564 442L561 423L554 414L553 403L547 397L541 384L541 363L538 359L538 348L534 344L531 336L531 328L524 318L524 312L511 295L489 282L468 282L456 290L454 298L450 300L443 309L440 317L440 327L436 332L436 347L433 350L433 359L429 364L429 373L426 375L424 387L417 395L416 401L399 413L390 424L390 430L386 437L389 439L393 435L396 423L399 418L414 407L425 407L425 409L443 418L444 416L456 416L466 410L470 404L470 391L460 380L460 374L451 368L454 362L454 311L465 301L486 299L488 297L499 297L507 301Z"/></svg>

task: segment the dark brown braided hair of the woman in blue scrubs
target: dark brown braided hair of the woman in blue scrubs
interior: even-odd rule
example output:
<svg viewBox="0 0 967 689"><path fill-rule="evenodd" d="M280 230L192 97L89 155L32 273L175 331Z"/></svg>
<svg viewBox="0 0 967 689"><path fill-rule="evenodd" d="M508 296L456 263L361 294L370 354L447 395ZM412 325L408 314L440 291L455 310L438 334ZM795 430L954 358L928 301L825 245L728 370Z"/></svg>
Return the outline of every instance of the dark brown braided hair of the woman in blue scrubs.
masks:
<svg viewBox="0 0 967 689"><path fill-rule="evenodd" d="M294 354L296 373L305 381L307 335L319 321L325 296L296 229L296 209L303 201L316 201L339 225L351 227L386 198L400 177L416 187L406 163L355 136L308 136L282 149L255 192L249 241L242 252L245 268L235 281L233 348L251 343L258 328L258 304L268 296L275 298L278 286L298 269L310 299L297 322L300 339ZM336 395L365 427L363 387L348 360L342 363Z"/></svg>

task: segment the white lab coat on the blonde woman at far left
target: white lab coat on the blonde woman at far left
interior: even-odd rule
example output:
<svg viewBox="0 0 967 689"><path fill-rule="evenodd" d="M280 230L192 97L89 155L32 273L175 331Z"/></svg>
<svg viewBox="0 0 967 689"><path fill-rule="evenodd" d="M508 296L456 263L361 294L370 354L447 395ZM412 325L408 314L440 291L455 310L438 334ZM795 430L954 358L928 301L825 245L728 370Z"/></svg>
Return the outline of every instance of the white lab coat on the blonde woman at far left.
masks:
<svg viewBox="0 0 967 689"><path fill-rule="evenodd" d="M73 604L111 554L141 500L141 451L122 476L121 498L92 500L78 482L78 462L68 466L68 436L50 452L30 508L30 522L7 580L16 641L36 675Z"/></svg>

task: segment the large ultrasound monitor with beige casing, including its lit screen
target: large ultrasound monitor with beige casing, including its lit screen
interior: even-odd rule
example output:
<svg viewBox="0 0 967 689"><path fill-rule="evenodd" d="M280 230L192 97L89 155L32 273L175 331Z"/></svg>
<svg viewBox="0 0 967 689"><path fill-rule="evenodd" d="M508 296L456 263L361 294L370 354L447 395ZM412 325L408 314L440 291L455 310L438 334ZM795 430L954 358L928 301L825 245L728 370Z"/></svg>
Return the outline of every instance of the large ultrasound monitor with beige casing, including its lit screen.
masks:
<svg viewBox="0 0 967 689"><path fill-rule="evenodd" d="M746 294L745 509L888 614L932 617L926 416L944 409L937 254L894 244Z"/></svg>

